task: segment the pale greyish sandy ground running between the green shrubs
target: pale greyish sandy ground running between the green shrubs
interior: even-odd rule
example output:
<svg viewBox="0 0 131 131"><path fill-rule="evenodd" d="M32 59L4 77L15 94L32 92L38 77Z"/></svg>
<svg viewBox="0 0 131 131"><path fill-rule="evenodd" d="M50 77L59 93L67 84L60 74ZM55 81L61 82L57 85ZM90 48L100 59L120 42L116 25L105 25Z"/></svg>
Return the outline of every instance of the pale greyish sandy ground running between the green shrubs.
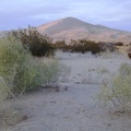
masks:
<svg viewBox="0 0 131 131"><path fill-rule="evenodd" d="M130 115L108 114L94 100L102 81L131 60L122 56L107 59L63 52L57 53L57 58L71 70L68 79L60 83L60 92L40 88L17 98L14 107L27 119L16 126L3 123L0 131L131 131ZM97 74L100 68L110 73Z"/></svg>

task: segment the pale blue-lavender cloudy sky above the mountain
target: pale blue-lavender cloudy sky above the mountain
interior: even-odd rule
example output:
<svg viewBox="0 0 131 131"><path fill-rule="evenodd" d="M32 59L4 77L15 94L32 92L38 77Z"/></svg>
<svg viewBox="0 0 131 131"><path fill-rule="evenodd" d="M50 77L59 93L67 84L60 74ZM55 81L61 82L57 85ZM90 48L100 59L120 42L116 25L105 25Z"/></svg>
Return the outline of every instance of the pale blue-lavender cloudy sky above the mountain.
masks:
<svg viewBox="0 0 131 131"><path fill-rule="evenodd" d="M63 17L131 32L131 0L1 0L0 31Z"/></svg>

